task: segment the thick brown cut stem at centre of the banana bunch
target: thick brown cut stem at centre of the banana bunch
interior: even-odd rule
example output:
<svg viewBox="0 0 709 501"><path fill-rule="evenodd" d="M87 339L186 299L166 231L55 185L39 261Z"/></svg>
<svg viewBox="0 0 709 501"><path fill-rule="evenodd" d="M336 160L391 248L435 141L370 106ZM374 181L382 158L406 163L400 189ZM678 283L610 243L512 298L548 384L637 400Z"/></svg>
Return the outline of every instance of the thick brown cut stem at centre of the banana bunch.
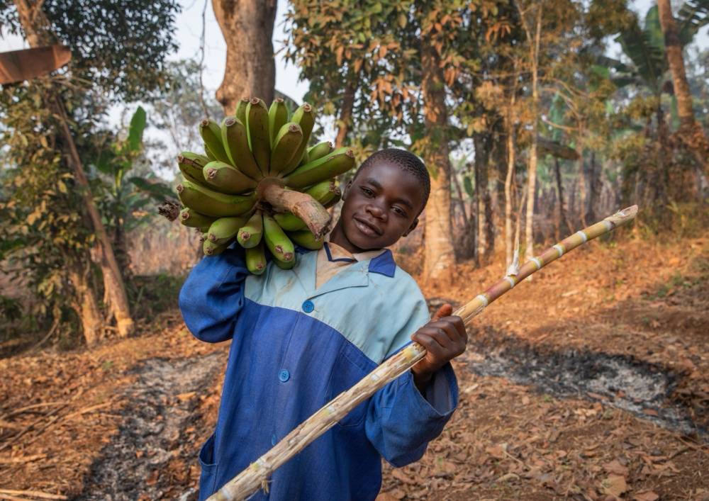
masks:
<svg viewBox="0 0 709 501"><path fill-rule="evenodd" d="M264 179L257 188L259 198L270 203L279 212L291 212L308 225L313 235L320 240L330 229L332 216L315 198L295 190L286 190L272 179Z"/></svg>

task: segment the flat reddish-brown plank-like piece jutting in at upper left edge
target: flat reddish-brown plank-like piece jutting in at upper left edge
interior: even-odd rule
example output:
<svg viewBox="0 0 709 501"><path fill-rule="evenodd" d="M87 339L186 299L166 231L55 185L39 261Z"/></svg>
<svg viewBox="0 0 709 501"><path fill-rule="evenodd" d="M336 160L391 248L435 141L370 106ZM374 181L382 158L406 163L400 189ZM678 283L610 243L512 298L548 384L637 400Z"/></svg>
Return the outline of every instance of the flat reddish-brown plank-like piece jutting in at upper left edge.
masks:
<svg viewBox="0 0 709 501"><path fill-rule="evenodd" d="M0 84L16 84L42 77L71 60L72 51L65 45L0 52Z"/></svg>

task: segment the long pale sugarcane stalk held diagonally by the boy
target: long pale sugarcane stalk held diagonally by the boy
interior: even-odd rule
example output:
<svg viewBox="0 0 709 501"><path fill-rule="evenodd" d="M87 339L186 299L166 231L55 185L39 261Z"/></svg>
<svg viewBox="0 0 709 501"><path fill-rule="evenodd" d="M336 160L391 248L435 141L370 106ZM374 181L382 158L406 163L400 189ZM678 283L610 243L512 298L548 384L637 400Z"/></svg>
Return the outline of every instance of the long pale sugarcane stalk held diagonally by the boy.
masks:
<svg viewBox="0 0 709 501"><path fill-rule="evenodd" d="M561 242L552 245L537 257L532 257L520 269L508 269L508 274L493 286L476 295L466 305L458 308L453 315L462 317L466 327L471 320L479 315L490 303L523 281L527 276L539 271L547 264L559 259L567 252L580 245L610 232L615 227L623 225L635 218L637 206L631 206L608 216L604 220L580 230ZM349 390L337 395L334 400L322 407L307 420L298 425L286 437L281 439L271 450L258 458L254 463L239 473L235 478L223 485L208 499L211 501L243 500L259 488L267 490L269 476L290 458L298 454L308 444L328 431L340 421L350 410L367 400L401 374L408 371L426 354L426 349L418 343L408 344L384 364L375 368L362 381Z"/></svg>

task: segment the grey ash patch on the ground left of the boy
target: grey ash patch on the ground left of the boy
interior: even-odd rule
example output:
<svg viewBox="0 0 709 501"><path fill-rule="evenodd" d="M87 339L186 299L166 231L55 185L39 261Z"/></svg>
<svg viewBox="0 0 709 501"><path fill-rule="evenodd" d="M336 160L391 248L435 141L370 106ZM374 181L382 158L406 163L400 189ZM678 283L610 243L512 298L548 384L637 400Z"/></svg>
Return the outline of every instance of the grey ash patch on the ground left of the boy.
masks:
<svg viewBox="0 0 709 501"><path fill-rule="evenodd" d="M91 466L76 500L138 500L171 497L169 479L160 477L169 461L189 458L196 463L194 444L184 430L194 424L199 394L223 369L223 354L189 359L148 359L133 373L138 378L123 392L123 424ZM194 394L193 394L194 393ZM187 450L189 449L189 450ZM181 500L196 500L189 489Z"/></svg>

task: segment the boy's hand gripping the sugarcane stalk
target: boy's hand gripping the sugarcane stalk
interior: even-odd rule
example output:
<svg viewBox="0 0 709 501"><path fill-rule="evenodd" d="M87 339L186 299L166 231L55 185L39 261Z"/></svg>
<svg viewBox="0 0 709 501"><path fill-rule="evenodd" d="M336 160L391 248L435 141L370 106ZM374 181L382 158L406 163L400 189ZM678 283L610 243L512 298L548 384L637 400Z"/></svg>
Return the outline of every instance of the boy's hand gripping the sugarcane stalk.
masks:
<svg viewBox="0 0 709 501"><path fill-rule="evenodd" d="M426 356L411 368L413 381L423 390L433 374L465 351L468 334L461 317L452 317L453 308L442 305L428 324L411 335L426 349Z"/></svg>

